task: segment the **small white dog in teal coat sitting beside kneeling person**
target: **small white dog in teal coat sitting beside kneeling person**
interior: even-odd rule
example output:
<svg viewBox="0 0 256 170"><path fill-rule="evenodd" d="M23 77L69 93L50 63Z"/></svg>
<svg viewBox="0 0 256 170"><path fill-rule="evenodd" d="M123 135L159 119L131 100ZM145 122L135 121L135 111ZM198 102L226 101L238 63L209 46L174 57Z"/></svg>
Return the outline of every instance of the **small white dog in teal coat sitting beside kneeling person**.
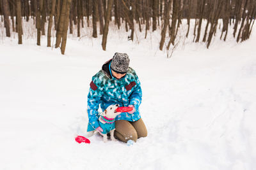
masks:
<svg viewBox="0 0 256 170"><path fill-rule="evenodd" d="M115 132L115 118L121 112L116 112L116 109L119 107L118 104L112 104L103 111L99 117L100 127L102 132L100 134L103 136L103 141L106 143L108 141L108 132L110 132L111 141L116 141L114 137ZM89 132L89 136L92 136L95 131Z"/></svg>

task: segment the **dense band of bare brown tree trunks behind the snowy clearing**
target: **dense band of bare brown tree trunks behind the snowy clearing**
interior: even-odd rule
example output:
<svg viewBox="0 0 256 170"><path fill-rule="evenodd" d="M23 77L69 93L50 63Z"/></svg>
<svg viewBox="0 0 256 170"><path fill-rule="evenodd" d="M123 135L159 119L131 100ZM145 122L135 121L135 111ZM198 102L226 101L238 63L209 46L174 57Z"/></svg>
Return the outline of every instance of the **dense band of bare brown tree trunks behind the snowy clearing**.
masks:
<svg viewBox="0 0 256 170"><path fill-rule="evenodd" d="M47 46L60 47L62 54L67 34L76 32L81 37L84 27L92 27L93 38L102 35L102 49L106 50L108 30L113 29L109 22L115 22L118 29L125 24L125 31L130 32L127 40L131 41L136 26L140 32L145 29L145 38L149 31L161 29L159 50L168 51L175 49L180 25L186 20L186 38L190 33L193 42L205 42L207 48L217 31L226 41L228 25L232 25L237 43L245 41L255 22L256 0L0 0L0 15L4 36L17 32L22 44L22 26L33 20L36 44L41 45L41 36L47 36ZM204 20L207 24L202 24ZM195 22L193 32L189 32L191 22Z"/></svg>

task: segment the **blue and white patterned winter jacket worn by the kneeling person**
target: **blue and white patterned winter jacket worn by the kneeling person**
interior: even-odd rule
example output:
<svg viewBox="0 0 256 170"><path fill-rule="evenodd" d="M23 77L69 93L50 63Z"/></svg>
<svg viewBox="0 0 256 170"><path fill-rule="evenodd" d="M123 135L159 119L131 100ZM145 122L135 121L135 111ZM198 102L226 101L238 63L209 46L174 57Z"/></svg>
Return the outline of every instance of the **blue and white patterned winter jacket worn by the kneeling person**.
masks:
<svg viewBox="0 0 256 170"><path fill-rule="evenodd" d="M88 129L93 131L99 127L99 105L102 111L106 110L111 104L119 104L119 106L134 105L135 112L130 114L121 113L116 120L128 120L134 122L139 120L141 104L141 85L140 80L134 69L128 68L124 77L119 80L110 73L109 64L111 60L106 62L102 69L92 77L88 94Z"/></svg>

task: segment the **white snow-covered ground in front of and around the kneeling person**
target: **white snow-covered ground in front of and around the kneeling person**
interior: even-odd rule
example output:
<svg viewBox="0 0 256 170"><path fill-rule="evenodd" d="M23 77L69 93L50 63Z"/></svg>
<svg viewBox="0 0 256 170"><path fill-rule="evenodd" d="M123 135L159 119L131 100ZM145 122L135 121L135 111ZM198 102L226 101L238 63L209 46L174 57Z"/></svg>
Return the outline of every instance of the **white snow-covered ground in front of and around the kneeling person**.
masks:
<svg viewBox="0 0 256 170"><path fill-rule="evenodd" d="M186 40L170 59L158 50L159 32L143 39L137 31L133 43L116 32L104 52L85 30L65 55L46 38L36 46L35 35L24 45L0 36L1 170L256 169L256 32L239 44L218 36L209 50ZM148 137L78 144L91 78L115 52L128 53L141 80Z"/></svg>

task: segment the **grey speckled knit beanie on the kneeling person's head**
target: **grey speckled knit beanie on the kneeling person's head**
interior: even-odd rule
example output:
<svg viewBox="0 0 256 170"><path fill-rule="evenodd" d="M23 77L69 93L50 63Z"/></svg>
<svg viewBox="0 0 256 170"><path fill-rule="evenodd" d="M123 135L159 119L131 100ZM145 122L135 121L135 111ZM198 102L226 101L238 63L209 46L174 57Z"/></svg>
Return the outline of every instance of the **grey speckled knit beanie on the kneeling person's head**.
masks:
<svg viewBox="0 0 256 170"><path fill-rule="evenodd" d="M111 62L111 69L116 73L125 74L130 63L127 53L115 53Z"/></svg>

